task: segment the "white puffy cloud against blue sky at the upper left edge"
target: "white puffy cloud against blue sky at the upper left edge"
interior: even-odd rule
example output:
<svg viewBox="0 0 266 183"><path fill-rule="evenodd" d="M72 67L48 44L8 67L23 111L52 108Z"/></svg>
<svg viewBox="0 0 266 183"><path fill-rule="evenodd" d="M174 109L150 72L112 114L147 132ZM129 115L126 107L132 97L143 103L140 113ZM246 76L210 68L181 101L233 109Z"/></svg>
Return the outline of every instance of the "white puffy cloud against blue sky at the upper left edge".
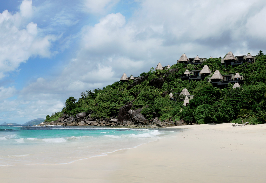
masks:
<svg viewBox="0 0 266 183"><path fill-rule="evenodd" d="M28 0L22 1L20 12L11 14L5 10L0 13L1 78L5 73L16 70L20 63L26 62L31 56L51 55L51 41L55 40L55 37L42 36L36 23L24 19L31 17L32 13L32 1Z"/></svg>

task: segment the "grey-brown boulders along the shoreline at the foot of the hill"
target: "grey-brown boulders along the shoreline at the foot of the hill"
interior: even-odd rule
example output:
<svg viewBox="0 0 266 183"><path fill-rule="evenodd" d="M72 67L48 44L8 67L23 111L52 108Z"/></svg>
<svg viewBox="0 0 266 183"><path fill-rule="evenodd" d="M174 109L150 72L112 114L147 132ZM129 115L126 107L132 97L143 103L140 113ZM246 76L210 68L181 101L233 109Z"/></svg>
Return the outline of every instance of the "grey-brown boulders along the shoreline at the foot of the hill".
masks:
<svg viewBox="0 0 266 183"><path fill-rule="evenodd" d="M129 108L130 106L127 106ZM90 118L90 115L83 113L76 114L76 117L69 116L68 114L64 114L61 118L58 118L56 121L51 122L42 122L39 126L45 125L61 125L61 126L127 126L127 127L171 127L171 126L181 126L188 125L183 120L178 121L160 121L157 117L152 120L146 120L142 114L139 112L140 109L136 110L127 110L124 109L125 106L121 107L119 110L118 117L114 118L101 118L95 119ZM132 115L129 115L131 113ZM124 115L123 115L124 114ZM118 119L120 118L120 119Z"/></svg>

